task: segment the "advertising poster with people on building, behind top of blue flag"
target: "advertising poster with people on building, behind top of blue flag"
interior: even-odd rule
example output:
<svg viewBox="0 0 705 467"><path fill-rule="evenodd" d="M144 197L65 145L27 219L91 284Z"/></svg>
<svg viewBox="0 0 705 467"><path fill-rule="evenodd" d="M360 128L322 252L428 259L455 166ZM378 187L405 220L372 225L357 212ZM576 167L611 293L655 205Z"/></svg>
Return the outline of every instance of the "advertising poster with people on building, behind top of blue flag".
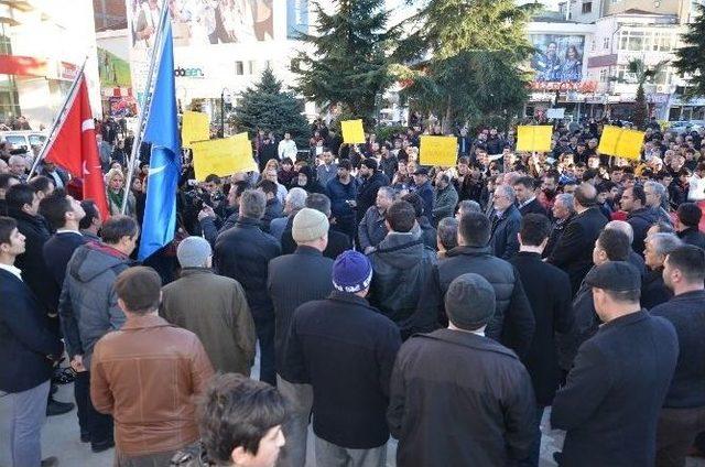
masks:
<svg viewBox="0 0 705 467"><path fill-rule="evenodd" d="M127 0L134 48L151 48L161 1ZM170 0L174 45L271 41L273 0Z"/></svg>

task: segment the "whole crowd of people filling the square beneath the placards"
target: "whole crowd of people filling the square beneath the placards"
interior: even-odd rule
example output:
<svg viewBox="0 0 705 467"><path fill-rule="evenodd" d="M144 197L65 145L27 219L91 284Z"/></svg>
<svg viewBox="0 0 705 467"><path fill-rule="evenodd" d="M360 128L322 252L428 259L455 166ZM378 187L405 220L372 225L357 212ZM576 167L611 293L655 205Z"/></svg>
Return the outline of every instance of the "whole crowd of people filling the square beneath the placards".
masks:
<svg viewBox="0 0 705 467"><path fill-rule="evenodd" d="M558 465L703 453L705 131L651 120L629 161L599 153L603 120L554 122L546 153L462 128L438 167L414 117L365 144L261 131L260 171L228 177L186 152L174 241L143 264L149 148L126 187L130 134L98 127L107 219L0 151L12 465L57 465L41 427L74 404L117 466L302 467L310 424L318 466L384 466L390 436L399 466L538 466L549 406Z"/></svg>

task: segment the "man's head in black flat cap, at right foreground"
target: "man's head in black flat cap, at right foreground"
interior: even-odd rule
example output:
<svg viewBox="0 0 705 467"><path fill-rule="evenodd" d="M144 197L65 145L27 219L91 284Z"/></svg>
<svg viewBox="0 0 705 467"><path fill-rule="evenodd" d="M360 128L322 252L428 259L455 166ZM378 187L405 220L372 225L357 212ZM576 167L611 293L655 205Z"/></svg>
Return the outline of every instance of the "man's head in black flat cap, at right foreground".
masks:
<svg viewBox="0 0 705 467"><path fill-rule="evenodd" d="M605 323L640 309L641 274L626 261L596 265L588 272L585 283L593 289L595 311Z"/></svg>

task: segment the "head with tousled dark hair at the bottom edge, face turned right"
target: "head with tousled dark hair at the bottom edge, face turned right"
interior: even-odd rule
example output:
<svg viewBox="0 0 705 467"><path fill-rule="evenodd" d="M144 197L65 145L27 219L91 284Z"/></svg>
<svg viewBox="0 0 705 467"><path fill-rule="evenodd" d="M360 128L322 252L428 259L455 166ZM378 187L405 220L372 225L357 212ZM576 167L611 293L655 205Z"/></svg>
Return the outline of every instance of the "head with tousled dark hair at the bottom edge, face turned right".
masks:
<svg viewBox="0 0 705 467"><path fill-rule="evenodd" d="M218 465L274 467L284 445L286 402L275 388L242 374L213 378L198 406L200 438Z"/></svg>

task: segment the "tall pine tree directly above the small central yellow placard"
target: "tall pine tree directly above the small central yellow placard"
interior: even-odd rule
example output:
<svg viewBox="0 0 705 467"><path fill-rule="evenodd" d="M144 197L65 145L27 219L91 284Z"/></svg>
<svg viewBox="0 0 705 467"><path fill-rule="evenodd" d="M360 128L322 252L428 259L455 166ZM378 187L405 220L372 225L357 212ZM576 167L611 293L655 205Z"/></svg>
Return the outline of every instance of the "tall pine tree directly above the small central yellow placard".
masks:
<svg viewBox="0 0 705 467"><path fill-rule="evenodd" d="M315 2L315 34L301 36L314 53L300 53L292 70L299 74L297 90L323 106L343 105L357 117L372 117L376 101L390 83L387 46L393 34L386 31L384 0L333 0L326 13Z"/></svg>

